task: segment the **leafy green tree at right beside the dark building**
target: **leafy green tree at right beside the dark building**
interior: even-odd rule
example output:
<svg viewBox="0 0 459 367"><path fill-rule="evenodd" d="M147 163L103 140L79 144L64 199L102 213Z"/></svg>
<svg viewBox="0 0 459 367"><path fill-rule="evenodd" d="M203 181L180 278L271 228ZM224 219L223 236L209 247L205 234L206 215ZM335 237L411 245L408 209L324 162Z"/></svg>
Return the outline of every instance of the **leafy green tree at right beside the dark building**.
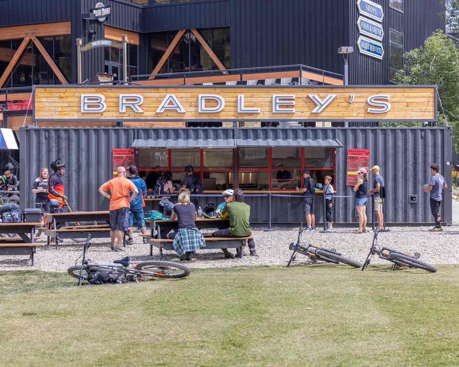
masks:
<svg viewBox="0 0 459 367"><path fill-rule="evenodd" d="M403 55L404 69L397 72L397 84L437 85L438 123L453 126L453 145L459 147L459 49L453 40L437 30L424 46ZM443 110L444 115L443 115Z"/></svg>

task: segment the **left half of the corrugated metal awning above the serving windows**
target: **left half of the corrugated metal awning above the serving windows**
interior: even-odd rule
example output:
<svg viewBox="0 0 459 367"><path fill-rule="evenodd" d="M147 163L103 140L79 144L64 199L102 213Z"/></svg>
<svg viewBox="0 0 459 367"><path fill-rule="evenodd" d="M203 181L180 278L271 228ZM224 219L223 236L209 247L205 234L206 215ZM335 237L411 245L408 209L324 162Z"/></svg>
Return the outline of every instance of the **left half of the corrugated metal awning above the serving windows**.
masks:
<svg viewBox="0 0 459 367"><path fill-rule="evenodd" d="M235 139L135 139L132 148L236 148Z"/></svg>

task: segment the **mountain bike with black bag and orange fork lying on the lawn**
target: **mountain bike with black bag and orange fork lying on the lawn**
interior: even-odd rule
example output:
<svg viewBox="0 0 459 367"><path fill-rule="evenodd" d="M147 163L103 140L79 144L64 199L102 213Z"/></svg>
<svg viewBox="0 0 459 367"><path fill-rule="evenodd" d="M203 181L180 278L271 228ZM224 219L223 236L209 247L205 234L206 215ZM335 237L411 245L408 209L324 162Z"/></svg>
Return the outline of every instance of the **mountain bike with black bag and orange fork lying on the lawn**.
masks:
<svg viewBox="0 0 459 367"><path fill-rule="evenodd" d="M67 272L78 278L78 285L83 280L90 284L128 283L155 278L184 278L190 275L190 268L172 261L131 261L129 256L113 262L91 261L86 259L86 251L90 246L91 235L88 235L83 249L81 266L69 267ZM78 259L77 259L78 261Z"/></svg>

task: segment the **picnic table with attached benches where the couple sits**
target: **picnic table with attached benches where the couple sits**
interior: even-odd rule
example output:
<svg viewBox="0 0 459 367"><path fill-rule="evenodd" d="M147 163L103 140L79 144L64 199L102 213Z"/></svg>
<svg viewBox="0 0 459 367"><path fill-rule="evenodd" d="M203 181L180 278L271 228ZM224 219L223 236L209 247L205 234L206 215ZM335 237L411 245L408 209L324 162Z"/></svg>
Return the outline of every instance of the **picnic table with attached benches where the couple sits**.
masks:
<svg viewBox="0 0 459 367"><path fill-rule="evenodd" d="M155 220L155 221L146 221L150 224L151 228L151 239L150 239L150 256L153 256L153 246L159 249L159 256L161 259L164 258L162 250L174 250L172 247L173 239L162 239L161 231L162 230L178 230L179 224L176 220ZM196 228L198 229L209 229L209 228L218 228L225 229L229 227L229 218L197 218ZM153 238L153 230L156 225L158 238ZM239 249L239 257L244 256L242 251L242 246L246 244L247 239L252 239L253 236L248 237L212 237L211 234L204 234L204 240L206 241L206 247L202 250L214 250L214 249Z"/></svg>

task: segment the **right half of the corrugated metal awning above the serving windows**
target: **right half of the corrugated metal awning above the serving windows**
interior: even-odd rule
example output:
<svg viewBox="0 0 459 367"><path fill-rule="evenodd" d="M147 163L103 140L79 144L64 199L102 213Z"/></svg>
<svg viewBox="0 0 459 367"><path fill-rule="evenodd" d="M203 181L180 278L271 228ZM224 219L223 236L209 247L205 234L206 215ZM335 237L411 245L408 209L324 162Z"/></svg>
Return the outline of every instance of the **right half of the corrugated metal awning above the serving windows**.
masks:
<svg viewBox="0 0 459 367"><path fill-rule="evenodd" d="M342 148L338 139L236 139L238 147Z"/></svg>

